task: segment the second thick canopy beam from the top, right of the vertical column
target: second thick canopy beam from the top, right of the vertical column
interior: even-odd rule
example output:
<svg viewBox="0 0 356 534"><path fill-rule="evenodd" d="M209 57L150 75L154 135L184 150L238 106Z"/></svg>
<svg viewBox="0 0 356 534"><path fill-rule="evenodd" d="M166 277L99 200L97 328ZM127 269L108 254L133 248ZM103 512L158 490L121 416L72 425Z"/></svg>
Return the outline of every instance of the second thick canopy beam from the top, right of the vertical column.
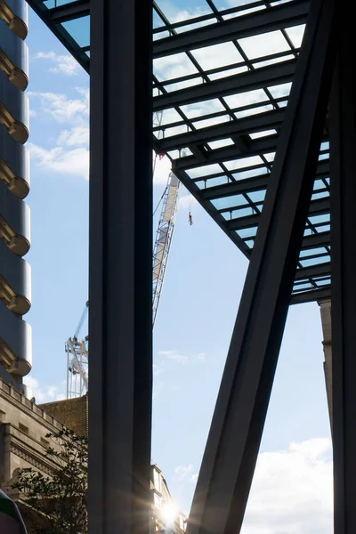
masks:
<svg viewBox="0 0 356 534"><path fill-rule="evenodd" d="M153 99L154 111L174 108L205 101L230 94L253 91L270 85L291 82L295 74L295 60L275 63L269 67L242 72L234 76L223 77L205 84L193 85L178 91L160 94Z"/></svg>

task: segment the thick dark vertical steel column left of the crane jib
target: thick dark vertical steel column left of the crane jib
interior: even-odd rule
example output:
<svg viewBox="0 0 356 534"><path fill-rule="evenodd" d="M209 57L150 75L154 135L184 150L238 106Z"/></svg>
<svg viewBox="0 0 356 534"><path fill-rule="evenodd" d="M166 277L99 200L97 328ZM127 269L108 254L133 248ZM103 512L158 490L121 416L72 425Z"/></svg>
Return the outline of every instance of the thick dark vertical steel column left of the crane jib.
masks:
<svg viewBox="0 0 356 534"><path fill-rule="evenodd" d="M90 534L150 530L151 18L91 0Z"/></svg>

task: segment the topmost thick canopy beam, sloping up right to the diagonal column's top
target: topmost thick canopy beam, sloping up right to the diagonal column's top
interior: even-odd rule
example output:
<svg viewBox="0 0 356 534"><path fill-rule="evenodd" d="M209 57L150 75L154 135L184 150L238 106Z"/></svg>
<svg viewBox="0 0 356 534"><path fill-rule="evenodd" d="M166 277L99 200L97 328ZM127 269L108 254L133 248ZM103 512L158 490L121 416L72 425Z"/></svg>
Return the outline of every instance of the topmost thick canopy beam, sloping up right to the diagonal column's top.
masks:
<svg viewBox="0 0 356 534"><path fill-rule="evenodd" d="M153 44L153 57L160 58L173 53L226 43L234 39L256 36L280 28L303 24L309 12L310 0L296 0L293 4L248 13L217 24L184 31L176 36L158 39Z"/></svg>

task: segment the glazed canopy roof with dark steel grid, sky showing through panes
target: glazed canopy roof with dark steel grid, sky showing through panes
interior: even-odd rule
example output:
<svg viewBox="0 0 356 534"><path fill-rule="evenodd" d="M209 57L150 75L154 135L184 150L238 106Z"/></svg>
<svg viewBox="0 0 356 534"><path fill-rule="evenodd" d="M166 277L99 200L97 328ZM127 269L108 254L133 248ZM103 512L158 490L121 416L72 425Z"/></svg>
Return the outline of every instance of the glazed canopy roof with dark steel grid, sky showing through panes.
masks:
<svg viewBox="0 0 356 534"><path fill-rule="evenodd" d="M90 72L90 1L28 0ZM249 257L309 0L153 2L153 146ZM330 295L328 117L292 302Z"/></svg>

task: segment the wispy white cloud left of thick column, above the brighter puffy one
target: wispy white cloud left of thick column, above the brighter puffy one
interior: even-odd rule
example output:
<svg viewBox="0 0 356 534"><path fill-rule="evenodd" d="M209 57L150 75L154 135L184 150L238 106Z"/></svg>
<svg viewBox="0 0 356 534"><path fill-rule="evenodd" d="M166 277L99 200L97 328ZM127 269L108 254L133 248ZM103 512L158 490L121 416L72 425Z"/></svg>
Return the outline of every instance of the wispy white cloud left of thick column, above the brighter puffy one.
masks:
<svg viewBox="0 0 356 534"><path fill-rule="evenodd" d="M38 103L38 109L44 117L52 117L58 123L71 125L87 125L89 117L89 90L76 87L80 95L77 99L69 99L61 93L38 93L28 91L30 101Z"/></svg>

